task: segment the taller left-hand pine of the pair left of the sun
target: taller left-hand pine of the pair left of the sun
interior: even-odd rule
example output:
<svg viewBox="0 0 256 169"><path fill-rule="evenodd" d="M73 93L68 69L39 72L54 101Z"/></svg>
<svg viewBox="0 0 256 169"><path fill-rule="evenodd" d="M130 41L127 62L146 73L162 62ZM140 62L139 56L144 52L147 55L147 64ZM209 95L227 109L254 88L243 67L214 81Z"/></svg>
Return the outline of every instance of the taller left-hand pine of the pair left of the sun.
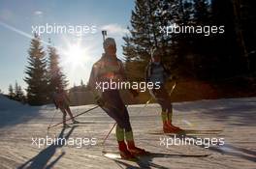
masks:
<svg viewBox="0 0 256 169"><path fill-rule="evenodd" d="M26 67L27 99L31 105L42 105L48 101L47 58L38 35L34 35L28 50Z"/></svg>

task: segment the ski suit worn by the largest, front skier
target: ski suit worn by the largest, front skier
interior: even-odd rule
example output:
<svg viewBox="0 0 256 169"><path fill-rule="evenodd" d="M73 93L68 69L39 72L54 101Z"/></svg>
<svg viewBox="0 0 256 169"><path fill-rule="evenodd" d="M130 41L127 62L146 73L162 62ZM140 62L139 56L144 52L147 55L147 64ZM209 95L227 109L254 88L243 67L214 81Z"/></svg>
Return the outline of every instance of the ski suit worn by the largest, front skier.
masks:
<svg viewBox="0 0 256 169"><path fill-rule="evenodd" d="M107 56L103 54L101 59L97 61L91 70L89 78L89 86L93 90L95 98L99 97L105 101L102 109L116 122L116 138L117 141L123 141L124 135L126 140L133 140L133 132L130 124L129 114L126 106L120 98L118 89L108 89L104 92L95 90L96 82L110 82L125 80L126 76L122 66L122 62L115 56Z"/></svg>

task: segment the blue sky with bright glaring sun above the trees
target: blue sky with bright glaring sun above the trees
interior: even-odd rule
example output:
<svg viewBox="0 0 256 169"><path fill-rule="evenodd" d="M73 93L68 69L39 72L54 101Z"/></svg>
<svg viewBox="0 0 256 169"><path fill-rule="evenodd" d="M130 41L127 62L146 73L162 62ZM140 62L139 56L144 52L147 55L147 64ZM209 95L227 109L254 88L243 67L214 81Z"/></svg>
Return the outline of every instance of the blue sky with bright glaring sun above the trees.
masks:
<svg viewBox="0 0 256 169"><path fill-rule="evenodd" d="M122 36L127 33L133 0L1 0L0 1L0 89L8 92L9 84L23 89L27 50L30 45L32 26L87 25L96 26L96 33L77 37L72 34L43 34L44 42L51 39L59 49L61 67L70 86L87 81L93 62L103 52L101 30L115 38L117 57L123 58ZM47 45L47 44L45 44ZM78 51L79 50L79 51Z"/></svg>

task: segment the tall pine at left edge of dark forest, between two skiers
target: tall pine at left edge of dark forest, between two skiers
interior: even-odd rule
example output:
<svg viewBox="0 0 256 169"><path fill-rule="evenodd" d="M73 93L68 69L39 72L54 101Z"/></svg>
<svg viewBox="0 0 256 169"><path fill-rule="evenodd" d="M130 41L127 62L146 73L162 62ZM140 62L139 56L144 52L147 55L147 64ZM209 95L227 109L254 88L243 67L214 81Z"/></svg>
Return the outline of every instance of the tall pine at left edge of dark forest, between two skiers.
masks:
<svg viewBox="0 0 256 169"><path fill-rule="evenodd" d="M128 28L130 36L123 40L123 54L125 55L125 69L132 80L144 79L144 68L150 59L153 47L159 44L159 31L155 13L157 3L153 0L137 0L135 10L132 11L131 25Z"/></svg>

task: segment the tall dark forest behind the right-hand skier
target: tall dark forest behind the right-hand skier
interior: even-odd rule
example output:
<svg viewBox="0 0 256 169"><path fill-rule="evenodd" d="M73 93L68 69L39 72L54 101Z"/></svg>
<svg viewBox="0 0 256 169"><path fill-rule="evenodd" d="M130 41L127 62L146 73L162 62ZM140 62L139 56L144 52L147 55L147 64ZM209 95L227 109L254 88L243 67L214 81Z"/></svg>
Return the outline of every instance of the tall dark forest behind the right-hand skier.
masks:
<svg viewBox="0 0 256 169"><path fill-rule="evenodd" d="M144 80L152 48L180 77L220 80L255 74L255 2L245 0L137 0L130 34L123 37L125 68L131 80ZM224 26L223 34L161 33L170 25Z"/></svg>

